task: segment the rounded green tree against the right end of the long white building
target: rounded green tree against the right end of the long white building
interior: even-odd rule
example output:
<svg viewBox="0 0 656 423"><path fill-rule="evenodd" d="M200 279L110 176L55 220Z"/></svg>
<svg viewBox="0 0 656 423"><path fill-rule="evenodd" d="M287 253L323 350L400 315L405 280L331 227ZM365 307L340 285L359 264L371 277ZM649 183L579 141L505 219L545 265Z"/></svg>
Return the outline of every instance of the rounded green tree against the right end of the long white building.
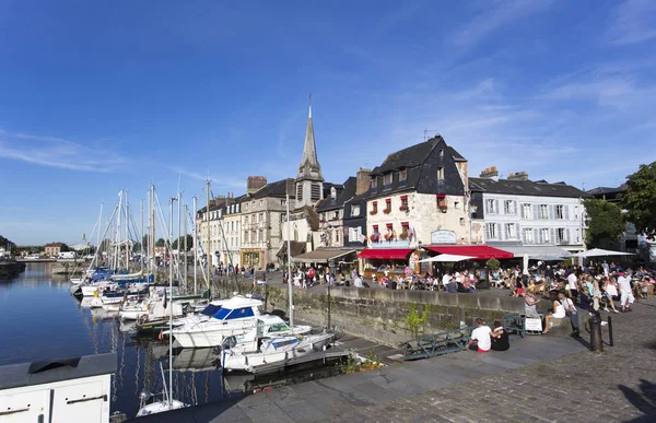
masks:
<svg viewBox="0 0 656 423"><path fill-rule="evenodd" d="M583 200L588 218L585 245L588 248L613 248L624 232L624 216L617 204L595 198Z"/></svg>

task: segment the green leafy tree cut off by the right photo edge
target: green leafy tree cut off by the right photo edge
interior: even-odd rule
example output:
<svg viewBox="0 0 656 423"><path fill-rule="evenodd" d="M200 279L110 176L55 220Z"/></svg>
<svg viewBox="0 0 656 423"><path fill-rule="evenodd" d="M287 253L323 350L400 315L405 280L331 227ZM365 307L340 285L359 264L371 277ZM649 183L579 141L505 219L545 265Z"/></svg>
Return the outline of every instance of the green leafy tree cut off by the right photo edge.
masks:
<svg viewBox="0 0 656 423"><path fill-rule="evenodd" d="M656 162L640 165L636 173L626 177L622 207L639 234L656 236Z"/></svg>

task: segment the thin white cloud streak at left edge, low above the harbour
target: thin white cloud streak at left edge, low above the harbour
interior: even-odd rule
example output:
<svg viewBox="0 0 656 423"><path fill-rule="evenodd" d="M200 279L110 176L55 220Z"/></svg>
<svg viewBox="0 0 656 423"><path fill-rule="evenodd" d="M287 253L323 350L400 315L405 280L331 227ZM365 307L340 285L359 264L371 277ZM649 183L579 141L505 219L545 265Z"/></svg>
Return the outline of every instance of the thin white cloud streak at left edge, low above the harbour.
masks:
<svg viewBox="0 0 656 423"><path fill-rule="evenodd" d="M83 172L112 172L127 161L114 153L56 137L0 129L0 158Z"/></svg>

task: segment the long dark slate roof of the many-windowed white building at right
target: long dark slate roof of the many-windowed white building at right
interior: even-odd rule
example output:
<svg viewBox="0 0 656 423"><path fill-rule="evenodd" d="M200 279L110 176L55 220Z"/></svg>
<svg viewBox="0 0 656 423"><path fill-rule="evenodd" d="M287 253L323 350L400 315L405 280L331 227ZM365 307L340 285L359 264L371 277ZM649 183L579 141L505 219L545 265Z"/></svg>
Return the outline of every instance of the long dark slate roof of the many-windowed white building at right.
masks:
<svg viewBox="0 0 656 423"><path fill-rule="evenodd" d="M546 184L532 180L469 178L469 189L475 192L507 193L514 196L538 197L589 197L588 193L571 185Z"/></svg>

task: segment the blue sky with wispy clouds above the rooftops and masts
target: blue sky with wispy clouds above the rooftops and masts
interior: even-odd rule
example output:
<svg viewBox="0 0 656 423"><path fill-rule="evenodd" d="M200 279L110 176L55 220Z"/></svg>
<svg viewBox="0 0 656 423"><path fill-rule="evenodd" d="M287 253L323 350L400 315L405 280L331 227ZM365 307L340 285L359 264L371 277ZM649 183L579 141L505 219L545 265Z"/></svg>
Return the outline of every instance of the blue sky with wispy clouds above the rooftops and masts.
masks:
<svg viewBox="0 0 656 423"><path fill-rule="evenodd" d="M0 235L295 177L309 93L327 181L440 133L473 176L618 186L656 161L655 74L651 0L0 0Z"/></svg>

